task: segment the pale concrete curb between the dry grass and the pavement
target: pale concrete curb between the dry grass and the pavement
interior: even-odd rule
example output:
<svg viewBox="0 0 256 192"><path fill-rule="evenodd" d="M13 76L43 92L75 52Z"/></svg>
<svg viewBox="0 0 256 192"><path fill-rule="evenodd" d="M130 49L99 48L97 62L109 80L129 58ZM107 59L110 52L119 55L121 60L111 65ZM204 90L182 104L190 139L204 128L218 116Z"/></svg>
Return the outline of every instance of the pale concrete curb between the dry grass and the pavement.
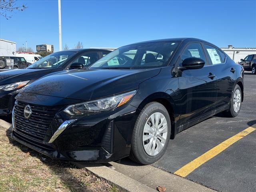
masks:
<svg viewBox="0 0 256 192"><path fill-rule="evenodd" d="M12 124L0 119L0 126L5 129L9 129ZM145 184L142 184L102 164L80 164L77 162L72 162L72 164L76 165L78 168L85 168L98 178L108 182L108 184L116 186L122 192L156 192L156 190L146 186Z"/></svg>

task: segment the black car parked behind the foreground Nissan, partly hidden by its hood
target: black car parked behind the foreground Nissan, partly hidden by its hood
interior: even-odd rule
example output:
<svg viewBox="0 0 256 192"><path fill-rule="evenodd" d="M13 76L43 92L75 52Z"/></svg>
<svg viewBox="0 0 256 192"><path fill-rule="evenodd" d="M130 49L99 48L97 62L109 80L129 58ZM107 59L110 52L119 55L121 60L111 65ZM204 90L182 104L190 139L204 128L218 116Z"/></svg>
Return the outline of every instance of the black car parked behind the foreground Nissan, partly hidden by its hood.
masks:
<svg viewBox="0 0 256 192"><path fill-rule="evenodd" d="M50 73L89 67L109 50L80 49L50 54L26 69L0 71L0 116L12 113L14 97L27 85Z"/></svg>

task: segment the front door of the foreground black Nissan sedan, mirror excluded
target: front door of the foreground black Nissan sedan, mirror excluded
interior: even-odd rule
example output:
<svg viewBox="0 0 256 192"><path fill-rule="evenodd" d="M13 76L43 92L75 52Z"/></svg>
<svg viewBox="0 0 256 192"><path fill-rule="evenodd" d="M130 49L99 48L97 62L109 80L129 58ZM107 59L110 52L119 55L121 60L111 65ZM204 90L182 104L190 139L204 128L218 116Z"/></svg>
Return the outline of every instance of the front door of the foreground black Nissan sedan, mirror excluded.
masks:
<svg viewBox="0 0 256 192"><path fill-rule="evenodd" d="M182 61L190 57L201 58L205 61L205 65L200 69L183 70L178 77L179 90L182 96L180 118L185 124L199 122L200 118L214 112L216 102L216 77L212 68L208 66L200 42L194 42L186 46L180 60L178 60L178 65L181 66Z"/></svg>

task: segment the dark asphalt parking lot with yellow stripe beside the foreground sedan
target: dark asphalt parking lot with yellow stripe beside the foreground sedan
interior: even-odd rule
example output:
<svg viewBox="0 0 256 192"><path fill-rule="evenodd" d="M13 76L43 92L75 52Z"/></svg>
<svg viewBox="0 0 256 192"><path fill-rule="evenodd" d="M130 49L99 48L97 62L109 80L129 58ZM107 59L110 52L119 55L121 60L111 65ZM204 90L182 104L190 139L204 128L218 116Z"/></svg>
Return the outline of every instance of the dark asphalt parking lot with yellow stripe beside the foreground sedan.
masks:
<svg viewBox="0 0 256 192"><path fill-rule="evenodd" d="M246 72L240 114L236 118L218 114L177 134L170 140L164 156L153 166L217 191L255 192L254 128L256 75Z"/></svg>

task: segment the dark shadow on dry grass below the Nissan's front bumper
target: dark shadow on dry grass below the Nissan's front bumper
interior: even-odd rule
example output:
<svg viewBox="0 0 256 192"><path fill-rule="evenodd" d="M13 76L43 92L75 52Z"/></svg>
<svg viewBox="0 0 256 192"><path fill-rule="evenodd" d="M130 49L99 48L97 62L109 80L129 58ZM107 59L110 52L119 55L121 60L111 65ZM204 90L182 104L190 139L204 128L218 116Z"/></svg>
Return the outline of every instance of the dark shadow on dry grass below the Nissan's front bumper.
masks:
<svg viewBox="0 0 256 192"><path fill-rule="evenodd" d="M77 176L73 175L68 170L70 168L78 168L79 169L78 166L76 166L76 165L72 164L72 162L68 162L68 161L53 160L53 159L49 158L48 156L45 156L44 154L40 154L39 152L20 144L19 142L10 138L11 132L12 132L11 129L12 129L12 126L10 126L10 128L8 128L8 130L6 130L6 136L8 137L10 144L18 147L24 153L29 152L30 156L38 158L43 164L48 166L52 170L52 172L54 172L54 174L56 176L58 176L61 179L61 181L66 186L68 186L68 188L70 188L71 191L77 191L78 186L80 186L81 182L82 182L81 178L78 178ZM66 169L66 168L68 168L68 169ZM80 192L89 192L91 190L87 186L82 186L79 188L79 191Z"/></svg>

